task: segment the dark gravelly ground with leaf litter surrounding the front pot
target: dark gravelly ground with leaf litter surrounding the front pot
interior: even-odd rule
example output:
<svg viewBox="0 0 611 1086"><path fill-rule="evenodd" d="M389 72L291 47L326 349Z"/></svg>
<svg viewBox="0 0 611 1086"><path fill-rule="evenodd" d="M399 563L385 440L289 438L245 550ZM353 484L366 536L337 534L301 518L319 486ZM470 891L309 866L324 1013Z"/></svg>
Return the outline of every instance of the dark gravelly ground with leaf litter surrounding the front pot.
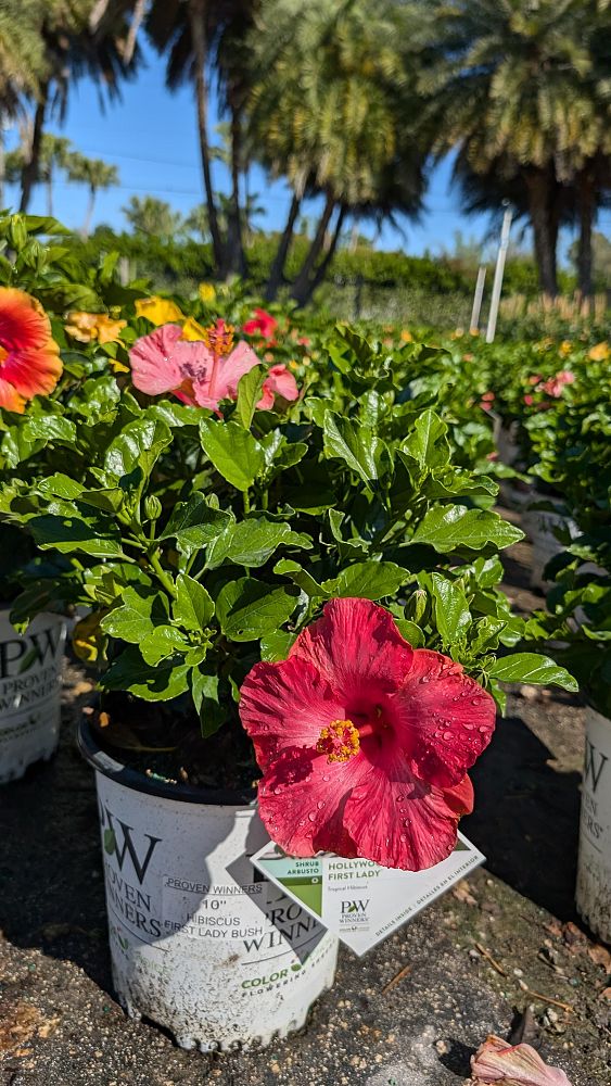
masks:
<svg viewBox="0 0 611 1086"><path fill-rule="evenodd" d="M529 551L512 548L517 606ZM92 776L74 748L90 694L66 669L59 757L0 798L0 1086L460 1086L489 1032L525 1037L573 1086L609 1086L611 956L574 914L583 710L517 690L474 773L466 834L489 857L366 958L341 955L307 1027L202 1056L112 995ZM529 1011L529 1008L531 1011ZM524 1013L526 1018L524 1019Z"/></svg>

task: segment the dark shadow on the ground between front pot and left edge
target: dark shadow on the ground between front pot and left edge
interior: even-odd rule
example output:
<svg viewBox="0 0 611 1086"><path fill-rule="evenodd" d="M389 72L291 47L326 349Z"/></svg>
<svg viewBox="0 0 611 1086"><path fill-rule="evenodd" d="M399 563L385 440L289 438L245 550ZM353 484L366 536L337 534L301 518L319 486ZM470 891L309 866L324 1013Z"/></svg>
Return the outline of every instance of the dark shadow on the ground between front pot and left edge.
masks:
<svg viewBox="0 0 611 1086"><path fill-rule="evenodd" d="M68 669L68 679L79 680ZM66 698L60 752L0 794L0 927L15 946L80 965L112 990L92 771L75 745L86 698Z"/></svg>

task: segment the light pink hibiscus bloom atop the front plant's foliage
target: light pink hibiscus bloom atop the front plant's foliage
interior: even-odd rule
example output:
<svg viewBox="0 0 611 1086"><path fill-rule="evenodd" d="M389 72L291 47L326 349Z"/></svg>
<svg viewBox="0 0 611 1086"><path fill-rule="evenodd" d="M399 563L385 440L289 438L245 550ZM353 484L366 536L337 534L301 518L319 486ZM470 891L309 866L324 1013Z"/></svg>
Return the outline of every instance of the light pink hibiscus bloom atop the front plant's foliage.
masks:
<svg viewBox="0 0 611 1086"><path fill-rule="evenodd" d="M252 348L233 346L233 329L222 320L207 328L205 340L181 339L179 325L162 325L136 341L129 352L133 384L149 395L173 392L182 403L219 414L221 400L238 399L238 382L259 364ZM257 407L269 411L275 395L296 400L295 378L285 366L272 366Z"/></svg>

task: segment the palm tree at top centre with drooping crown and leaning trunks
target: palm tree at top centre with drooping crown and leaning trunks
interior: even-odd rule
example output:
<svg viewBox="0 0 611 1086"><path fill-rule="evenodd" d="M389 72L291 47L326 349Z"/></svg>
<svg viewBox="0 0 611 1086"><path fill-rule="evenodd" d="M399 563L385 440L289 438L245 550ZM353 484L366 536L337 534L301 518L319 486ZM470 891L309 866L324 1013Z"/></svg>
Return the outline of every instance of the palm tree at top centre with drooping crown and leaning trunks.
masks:
<svg viewBox="0 0 611 1086"><path fill-rule="evenodd" d="M413 80L399 46L410 17L411 10L393 0L310 0L307 7L263 0L251 38L250 135L272 176L285 176L293 191L269 299L282 280L304 198L321 195L322 210L293 283L301 304L332 260L347 215L379 207L417 212L423 154L406 123Z"/></svg>

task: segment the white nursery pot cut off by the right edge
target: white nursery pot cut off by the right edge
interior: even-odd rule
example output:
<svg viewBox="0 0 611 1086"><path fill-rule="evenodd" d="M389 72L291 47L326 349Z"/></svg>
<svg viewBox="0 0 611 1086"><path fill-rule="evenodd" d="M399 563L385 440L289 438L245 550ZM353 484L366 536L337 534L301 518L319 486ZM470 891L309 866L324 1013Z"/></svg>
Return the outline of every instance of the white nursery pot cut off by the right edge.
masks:
<svg viewBox="0 0 611 1086"><path fill-rule="evenodd" d="M588 706L582 788L577 909L611 943L611 720Z"/></svg>

